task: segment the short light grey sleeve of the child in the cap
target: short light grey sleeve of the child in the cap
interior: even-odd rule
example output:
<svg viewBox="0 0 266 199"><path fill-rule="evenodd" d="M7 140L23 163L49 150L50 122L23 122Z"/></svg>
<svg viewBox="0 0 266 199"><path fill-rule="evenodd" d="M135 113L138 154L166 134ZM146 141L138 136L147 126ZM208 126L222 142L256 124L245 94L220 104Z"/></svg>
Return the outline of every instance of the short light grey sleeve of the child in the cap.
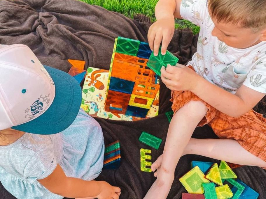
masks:
<svg viewBox="0 0 266 199"><path fill-rule="evenodd" d="M53 145L49 144L36 152L24 168L24 178L31 184L48 177L57 166Z"/></svg>

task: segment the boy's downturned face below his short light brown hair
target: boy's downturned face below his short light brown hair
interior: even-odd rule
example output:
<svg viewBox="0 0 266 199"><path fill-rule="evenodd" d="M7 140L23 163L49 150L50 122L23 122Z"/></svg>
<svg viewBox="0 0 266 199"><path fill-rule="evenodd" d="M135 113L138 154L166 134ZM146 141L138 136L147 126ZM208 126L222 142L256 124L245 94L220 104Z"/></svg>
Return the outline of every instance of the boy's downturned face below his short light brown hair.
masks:
<svg viewBox="0 0 266 199"><path fill-rule="evenodd" d="M215 27L211 34L230 47L245 49L264 40L265 30L254 33L250 28L212 20Z"/></svg>

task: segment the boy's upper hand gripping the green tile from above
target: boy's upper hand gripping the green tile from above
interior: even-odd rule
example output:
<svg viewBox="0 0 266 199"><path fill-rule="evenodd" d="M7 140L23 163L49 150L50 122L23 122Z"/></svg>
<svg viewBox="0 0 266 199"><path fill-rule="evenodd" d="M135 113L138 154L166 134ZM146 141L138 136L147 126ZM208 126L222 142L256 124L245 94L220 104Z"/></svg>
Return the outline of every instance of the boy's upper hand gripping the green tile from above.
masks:
<svg viewBox="0 0 266 199"><path fill-rule="evenodd" d="M148 41L150 49L153 50L155 56L158 55L160 43L162 42L162 55L166 53L166 49L174 35L174 16L158 19L150 26L148 31Z"/></svg>

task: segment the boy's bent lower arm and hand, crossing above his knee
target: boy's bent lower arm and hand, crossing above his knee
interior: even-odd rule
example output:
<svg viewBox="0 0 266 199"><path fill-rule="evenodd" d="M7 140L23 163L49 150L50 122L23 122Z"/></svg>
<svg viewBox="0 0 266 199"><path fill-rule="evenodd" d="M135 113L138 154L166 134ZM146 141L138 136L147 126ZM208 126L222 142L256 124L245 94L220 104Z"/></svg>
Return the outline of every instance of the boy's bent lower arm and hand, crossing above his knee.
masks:
<svg viewBox="0 0 266 199"><path fill-rule="evenodd" d="M242 85L232 94L199 76L181 64L162 67L162 81L171 90L190 90L203 101L231 117L239 117L250 111L264 96ZM167 78L167 79L166 79Z"/></svg>

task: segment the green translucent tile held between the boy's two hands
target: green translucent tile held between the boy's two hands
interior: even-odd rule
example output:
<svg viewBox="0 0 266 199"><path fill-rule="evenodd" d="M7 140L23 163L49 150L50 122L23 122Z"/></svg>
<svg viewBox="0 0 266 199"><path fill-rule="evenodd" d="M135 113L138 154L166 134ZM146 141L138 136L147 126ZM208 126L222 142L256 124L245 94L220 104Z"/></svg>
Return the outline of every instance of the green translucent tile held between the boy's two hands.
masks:
<svg viewBox="0 0 266 199"><path fill-rule="evenodd" d="M169 51L166 51L166 54L162 55L160 47L157 56L154 56L153 52L151 53L149 61L147 62L147 66L161 77L162 66L167 67L167 64L175 66L177 62L178 58Z"/></svg>

